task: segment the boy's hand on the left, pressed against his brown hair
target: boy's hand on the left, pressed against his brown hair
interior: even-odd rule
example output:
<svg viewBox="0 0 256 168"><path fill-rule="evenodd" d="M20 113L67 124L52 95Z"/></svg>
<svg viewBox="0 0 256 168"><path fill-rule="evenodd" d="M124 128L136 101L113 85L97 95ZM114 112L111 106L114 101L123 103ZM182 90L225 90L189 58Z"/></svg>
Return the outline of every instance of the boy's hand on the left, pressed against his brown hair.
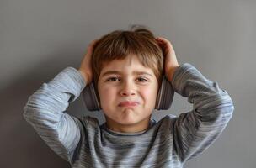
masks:
<svg viewBox="0 0 256 168"><path fill-rule="evenodd" d="M93 80L93 70L92 70L91 60L92 60L94 46L98 42L98 40L99 39L94 39L88 45L86 54L83 56L81 66L78 70L83 75L83 78L87 82L87 84L90 83Z"/></svg>

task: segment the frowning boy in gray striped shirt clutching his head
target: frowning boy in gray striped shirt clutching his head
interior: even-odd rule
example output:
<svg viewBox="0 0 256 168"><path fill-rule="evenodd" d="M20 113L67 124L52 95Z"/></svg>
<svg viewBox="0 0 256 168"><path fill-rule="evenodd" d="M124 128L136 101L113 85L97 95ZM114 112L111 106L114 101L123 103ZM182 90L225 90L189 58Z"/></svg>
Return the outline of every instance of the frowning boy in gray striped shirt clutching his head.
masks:
<svg viewBox="0 0 256 168"><path fill-rule="evenodd" d="M163 74L193 110L151 120ZM94 81L106 123L65 113ZM148 29L114 31L88 45L80 68L67 67L29 97L24 118L72 167L183 167L221 134L234 106L173 46Z"/></svg>

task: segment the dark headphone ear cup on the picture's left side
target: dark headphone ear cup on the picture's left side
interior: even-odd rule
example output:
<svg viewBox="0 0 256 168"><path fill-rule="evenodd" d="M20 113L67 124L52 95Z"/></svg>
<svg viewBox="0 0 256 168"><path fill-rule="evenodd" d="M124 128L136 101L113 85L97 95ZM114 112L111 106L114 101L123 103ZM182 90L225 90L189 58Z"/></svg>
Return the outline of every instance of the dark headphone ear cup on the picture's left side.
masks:
<svg viewBox="0 0 256 168"><path fill-rule="evenodd" d="M101 110L99 97L94 88L93 81L90 82L82 91L83 102L89 111L99 111Z"/></svg>

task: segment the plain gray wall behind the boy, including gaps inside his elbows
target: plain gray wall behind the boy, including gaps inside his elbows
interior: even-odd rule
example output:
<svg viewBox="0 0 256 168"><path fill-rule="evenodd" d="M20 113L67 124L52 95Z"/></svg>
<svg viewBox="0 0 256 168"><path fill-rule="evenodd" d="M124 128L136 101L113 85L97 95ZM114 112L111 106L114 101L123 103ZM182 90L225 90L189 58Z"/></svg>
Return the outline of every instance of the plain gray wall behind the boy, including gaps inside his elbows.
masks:
<svg viewBox="0 0 256 168"><path fill-rule="evenodd" d="M184 167L256 165L256 4L232 0L1 0L0 167L69 167L22 118L29 95L67 66L78 68L90 41L144 24L169 39L179 64L194 65L232 97L235 111L221 137ZM163 118L192 105L174 96ZM91 115L79 97L67 113Z"/></svg>

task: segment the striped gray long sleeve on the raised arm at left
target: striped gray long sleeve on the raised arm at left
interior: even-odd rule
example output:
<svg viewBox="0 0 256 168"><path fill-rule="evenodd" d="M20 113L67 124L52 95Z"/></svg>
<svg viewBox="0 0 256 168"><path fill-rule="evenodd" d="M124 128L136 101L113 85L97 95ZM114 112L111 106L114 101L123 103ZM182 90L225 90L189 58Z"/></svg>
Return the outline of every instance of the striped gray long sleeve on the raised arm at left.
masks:
<svg viewBox="0 0 256 168"><path fill-rule="evenodd" d="M24 118L56 154L67 161L81 137L80 121L65 113L86 86L82 74L69 66L53 80L43 83L24 106Z"/></svg>

